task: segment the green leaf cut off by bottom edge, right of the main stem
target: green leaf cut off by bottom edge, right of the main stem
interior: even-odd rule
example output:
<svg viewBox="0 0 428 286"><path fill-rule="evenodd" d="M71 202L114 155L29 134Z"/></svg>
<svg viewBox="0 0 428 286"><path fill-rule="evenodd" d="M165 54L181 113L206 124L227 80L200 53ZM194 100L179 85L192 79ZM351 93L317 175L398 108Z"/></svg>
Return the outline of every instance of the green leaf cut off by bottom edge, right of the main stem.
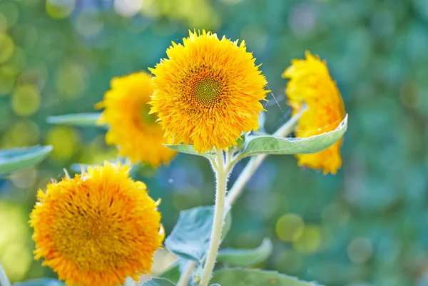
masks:
<svg viewBox="0 0 428 286"><path fill-rule="evenodd" d="M214 272L211 283L221 286L320 286L276 271L258 269L223 268Z"/></svg>

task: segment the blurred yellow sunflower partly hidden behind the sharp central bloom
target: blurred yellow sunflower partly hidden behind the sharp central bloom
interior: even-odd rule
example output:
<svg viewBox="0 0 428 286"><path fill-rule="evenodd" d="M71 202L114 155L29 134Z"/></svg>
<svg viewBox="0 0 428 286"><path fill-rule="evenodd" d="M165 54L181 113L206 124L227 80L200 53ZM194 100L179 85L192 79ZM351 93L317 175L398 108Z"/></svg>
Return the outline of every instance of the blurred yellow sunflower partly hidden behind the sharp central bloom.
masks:
<svg viewBox="0 0 428 286"><path fill-rule="evenodd" d="M156 115L148 114L150 96L153 94L152 78L148 73L138 72L113 78L111 90L104 100L96 105L105 108L99 124L110 127L106 135L108 144L117 145L119 155L155 167L168 163L175 151L163 145L165 138Z"/></svg>

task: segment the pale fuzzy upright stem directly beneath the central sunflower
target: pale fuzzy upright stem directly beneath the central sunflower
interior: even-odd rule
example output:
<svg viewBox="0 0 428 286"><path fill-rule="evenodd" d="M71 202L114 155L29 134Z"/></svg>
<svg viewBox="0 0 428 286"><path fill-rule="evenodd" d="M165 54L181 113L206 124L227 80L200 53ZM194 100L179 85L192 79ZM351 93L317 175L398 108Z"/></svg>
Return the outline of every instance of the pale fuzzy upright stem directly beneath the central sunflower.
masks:
<svg viewBox="0 0 428 286"><path fill-rule="evenodd" d="M217 170L215 170L215 178L217 179L217 188L215 190L215 208L213 231L211 233L210 247L208 247L205 266L203 267L202 277L200 278L199 286L208 286L211 275L213 274L215 261L217 259L218 247L220 245L221 230L223 228L224 210L225 210L225 195L228 174L226 173L225 162L223 159L223 151L218 150L215 160L217 161Z"/></svg>

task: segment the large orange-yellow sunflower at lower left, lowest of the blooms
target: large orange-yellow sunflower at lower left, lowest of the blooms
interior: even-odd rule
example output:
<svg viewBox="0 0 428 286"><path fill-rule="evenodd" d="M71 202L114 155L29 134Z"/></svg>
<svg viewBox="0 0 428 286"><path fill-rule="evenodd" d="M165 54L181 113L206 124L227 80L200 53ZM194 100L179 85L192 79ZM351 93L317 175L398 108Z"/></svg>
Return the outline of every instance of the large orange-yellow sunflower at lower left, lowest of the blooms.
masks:
<svg viewBox="0 0 428 286"><path fill-rule="evenodd" d="M151 272L163 242L158 202L127 165L104 163L39 190L30 215L36 260L70 286L117 286Z"/></svg>

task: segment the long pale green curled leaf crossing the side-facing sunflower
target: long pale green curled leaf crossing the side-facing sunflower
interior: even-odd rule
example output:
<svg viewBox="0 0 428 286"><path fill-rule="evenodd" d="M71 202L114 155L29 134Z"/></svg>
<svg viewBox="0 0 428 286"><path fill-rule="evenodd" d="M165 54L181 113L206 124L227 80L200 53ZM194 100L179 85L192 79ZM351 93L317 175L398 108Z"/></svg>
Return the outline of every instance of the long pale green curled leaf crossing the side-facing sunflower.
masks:
<svg viewBox="0 0 428 286"><path fill-rule="evenodd" d="M308 138L279 138L275 136L248 136L239 157L259 154L287 155L317 153L342 138L347 130L347 116L334 131Z"/></svg>

